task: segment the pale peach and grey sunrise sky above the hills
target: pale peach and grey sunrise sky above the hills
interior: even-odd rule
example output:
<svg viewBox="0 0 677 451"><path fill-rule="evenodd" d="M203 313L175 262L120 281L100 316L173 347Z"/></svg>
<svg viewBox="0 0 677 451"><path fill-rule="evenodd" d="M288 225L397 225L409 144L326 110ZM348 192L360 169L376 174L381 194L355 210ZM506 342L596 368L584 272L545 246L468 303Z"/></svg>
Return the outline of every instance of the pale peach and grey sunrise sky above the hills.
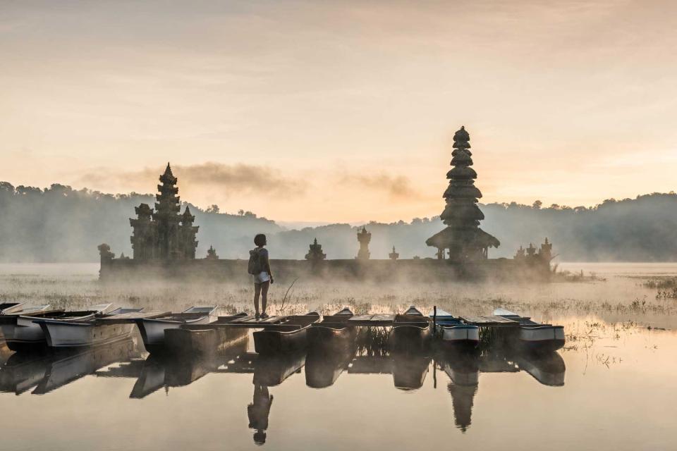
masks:
<svg viewBox="0 0 677 451"><path fill-rule="evenodd" d="M0 180L277 221L676 189L673 1L0 0Z"/></svg>

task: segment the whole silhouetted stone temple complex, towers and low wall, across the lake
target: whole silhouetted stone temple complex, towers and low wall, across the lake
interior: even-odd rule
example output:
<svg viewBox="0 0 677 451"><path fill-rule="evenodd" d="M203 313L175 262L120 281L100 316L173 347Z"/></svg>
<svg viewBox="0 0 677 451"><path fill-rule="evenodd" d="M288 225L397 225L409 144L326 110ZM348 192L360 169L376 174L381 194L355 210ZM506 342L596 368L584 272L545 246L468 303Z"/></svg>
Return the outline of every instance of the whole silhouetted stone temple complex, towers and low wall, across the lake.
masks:
<svg viewBox="0 0 677 451"><path fill-rule="evenodd" d="M443 195L446 203L440 215L445 228L426 240L428 246L437 249L437 258L400 259L395 247L390 254L374 255L369 249L372 233L362 227L357 233L360 247L356 258L327 259L322 245L315 240L305 259L271 261L276 280L283 283L312 277L379 282L394 278L432 282L453 278L548 280L551 277L550 261L554 257L552 244L547 239L540 249L533 245L526 249L520 247L513 259L489 259L489 248L499 247L501 243L480 228L484 214L477 203L482 192L475 186L477 173L472 168L470 135L463 127L453 136L451 156L452 168L446 174L449 186ZM159 180L154 209L148 204L140 204L135 207L136 217L129 220L133 228L133 258L116 258L109 245L99 245L100 278L130 280L161 276L250 281L246 255L243 258L219 259L214 247L210 247L207 258L195 258L198 230L193 225L195 216L188 206L181 213L181 199L176 186L178 179L171 172L169 163ZM258 230L251 230L251 237L256 233Z"/></svg>

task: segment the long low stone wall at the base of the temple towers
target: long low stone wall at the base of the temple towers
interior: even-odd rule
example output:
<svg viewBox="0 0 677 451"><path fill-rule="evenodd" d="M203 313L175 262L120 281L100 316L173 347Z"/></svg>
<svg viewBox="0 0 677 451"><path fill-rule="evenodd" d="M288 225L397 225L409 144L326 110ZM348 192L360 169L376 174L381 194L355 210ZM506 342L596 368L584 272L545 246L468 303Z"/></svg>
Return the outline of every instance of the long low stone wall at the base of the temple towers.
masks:
<svg viewBox="0 0 677 451"><path fill-rule="evenodd" d="M477 264L453 265L437 259L401 260L271 260L276 282L302 279L347 279L373 282L435 282L454 279L547 280L547 266L512 259L489 259ZM138 261L102 259L101 280L171 278L249 283L247 260Z"/></svg>

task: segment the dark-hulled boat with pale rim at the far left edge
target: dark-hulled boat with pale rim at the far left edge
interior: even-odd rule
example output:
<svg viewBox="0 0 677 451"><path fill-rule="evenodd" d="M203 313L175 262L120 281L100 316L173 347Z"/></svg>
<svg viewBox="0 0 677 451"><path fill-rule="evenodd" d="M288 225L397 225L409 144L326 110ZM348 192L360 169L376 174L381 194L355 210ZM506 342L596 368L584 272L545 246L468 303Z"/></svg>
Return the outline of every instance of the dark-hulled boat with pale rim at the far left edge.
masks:
<svg viewBox="0 0 677 451"><path fill-rule="evenodd" d="M47 347L47 338L44 330L36 321L54 319L64 322L90 321L97 314L109 309L111 304L99 304L90 310L63 311L37 310L32 312L18 311L18 314L4 314L0 316L0 327L7 342L7 347L13 351L39 350ZM47 307L48 308L48 307Z"/></svg>

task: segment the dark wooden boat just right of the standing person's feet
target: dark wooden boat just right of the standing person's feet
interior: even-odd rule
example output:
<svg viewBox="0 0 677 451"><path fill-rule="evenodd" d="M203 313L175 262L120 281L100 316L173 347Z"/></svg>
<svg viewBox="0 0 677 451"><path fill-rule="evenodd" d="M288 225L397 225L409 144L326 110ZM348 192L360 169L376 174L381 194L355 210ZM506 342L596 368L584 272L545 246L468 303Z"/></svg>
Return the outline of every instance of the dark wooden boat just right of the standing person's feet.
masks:
<svg viewBox="0 0 677 451"><path fill-rule="evenodd" d="M263 330L254 335L254 348L259 354L294 352L307 347L307 330L319 320L319 314L311 312L305 315L286 316L275 324L262 324Z"/></svg>

